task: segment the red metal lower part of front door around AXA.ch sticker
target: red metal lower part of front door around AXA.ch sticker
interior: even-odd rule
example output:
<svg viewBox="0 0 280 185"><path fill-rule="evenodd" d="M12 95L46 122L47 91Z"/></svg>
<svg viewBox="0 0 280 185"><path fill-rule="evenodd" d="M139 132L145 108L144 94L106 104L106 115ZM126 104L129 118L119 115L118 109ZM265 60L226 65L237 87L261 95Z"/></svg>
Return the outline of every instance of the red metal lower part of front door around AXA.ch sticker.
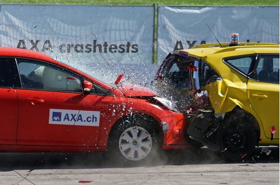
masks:
<svg viewBox="0 0 280 185"><path fill-rule="evenodd" d="M19 145L97 146L99 127L48 124L49 109L93 110L102 109L96 95L86 97L79 93L16 89L18 95ZM94 106L83 106L88 101ZM35 100L33 102L33 100ZM36 102L43 100L44 102ZM71 116L70 116L71 118ZM67 137L67 138L66 138Z"/></svg>

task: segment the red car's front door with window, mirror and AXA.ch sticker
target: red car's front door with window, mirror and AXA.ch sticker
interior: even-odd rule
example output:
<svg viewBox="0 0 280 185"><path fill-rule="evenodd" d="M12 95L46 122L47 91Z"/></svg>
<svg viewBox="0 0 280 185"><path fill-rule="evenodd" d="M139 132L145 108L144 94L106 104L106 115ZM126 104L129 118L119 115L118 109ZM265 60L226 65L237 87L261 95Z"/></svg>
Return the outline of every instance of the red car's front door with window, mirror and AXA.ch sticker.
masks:
<svg viewBox="0 0 280 185"><path fill-rule="evenodd" d="M21 88L18 96L19 145L96 146L102 105L83 104L80 77L62 67L29 58L15 58Z"/></svg>

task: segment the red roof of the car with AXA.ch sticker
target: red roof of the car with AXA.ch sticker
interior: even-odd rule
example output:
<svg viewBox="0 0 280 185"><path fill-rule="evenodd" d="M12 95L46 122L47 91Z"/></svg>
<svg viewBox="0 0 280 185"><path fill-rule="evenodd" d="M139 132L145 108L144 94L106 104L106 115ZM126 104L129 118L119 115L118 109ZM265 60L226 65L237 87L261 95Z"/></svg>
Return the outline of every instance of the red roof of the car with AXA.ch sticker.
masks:
<svg viewBox="0 0 280 185"><path fill-rule="evenodd" d="M11 48L11 47L0 47L0 56L17 56L17 57L29 57L41 60L51 60L51 58L44 54L28 49Z"/></svg>

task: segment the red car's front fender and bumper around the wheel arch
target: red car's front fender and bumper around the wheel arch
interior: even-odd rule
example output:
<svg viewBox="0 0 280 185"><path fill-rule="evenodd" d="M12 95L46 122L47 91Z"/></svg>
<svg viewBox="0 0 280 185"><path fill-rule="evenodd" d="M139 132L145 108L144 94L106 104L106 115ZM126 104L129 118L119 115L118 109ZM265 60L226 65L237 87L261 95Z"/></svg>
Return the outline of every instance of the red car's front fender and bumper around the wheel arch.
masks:
<svg viewBox="0 0 280 185"><path fill-rule="evenodd" d="M109 133L111 132L111 129L113 129L113 126L118 124L118 121L121 119L133 114L144 114L153 118L152 121L156 121L161 130L163 125L167 124L169 130L165 130L163 133L163 144L185 144L184 135L186 133L187 125L183 114L173 112L160 105L152 104L144 99L128 98L123 102L125 102L125 108L121 114L114 115L113 112L111 112L106 113L106 115L103 116L104 120L102 120L98 146L107 146ZM109 102L105 102L104 104L106 109L113 110L113 106L115 107L115 105L110 104ZM133 109L130 107L133 107ZM123 108L123 106L121 106L121 108ZM116 112L118 111L116 110Z"/></svg>

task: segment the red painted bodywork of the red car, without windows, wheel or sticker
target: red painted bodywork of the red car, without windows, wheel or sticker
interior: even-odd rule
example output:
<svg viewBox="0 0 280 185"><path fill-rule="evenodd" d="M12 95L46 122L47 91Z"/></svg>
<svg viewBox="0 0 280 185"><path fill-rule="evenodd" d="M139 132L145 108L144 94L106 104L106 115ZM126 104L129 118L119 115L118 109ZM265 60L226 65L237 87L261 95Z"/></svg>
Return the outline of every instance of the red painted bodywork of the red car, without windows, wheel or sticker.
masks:
<svg viewBox="0 0 280 185"><path fill-rule="evenodd" d="M95 95L0 87L1 151L104 151L111 128L118 120L132 113L149 115L160 126L161 122L169 125L169 131L164 133L164 149L187 147L187 124L184 115L146 99L137 98L155 96L149 90L135 87L113 88L38 52L0 47L0 56L32 58L60 66L108 91L108 95ZM50 124L51 109L96 111L100 113L99 125L93 127Z"/></svg>

